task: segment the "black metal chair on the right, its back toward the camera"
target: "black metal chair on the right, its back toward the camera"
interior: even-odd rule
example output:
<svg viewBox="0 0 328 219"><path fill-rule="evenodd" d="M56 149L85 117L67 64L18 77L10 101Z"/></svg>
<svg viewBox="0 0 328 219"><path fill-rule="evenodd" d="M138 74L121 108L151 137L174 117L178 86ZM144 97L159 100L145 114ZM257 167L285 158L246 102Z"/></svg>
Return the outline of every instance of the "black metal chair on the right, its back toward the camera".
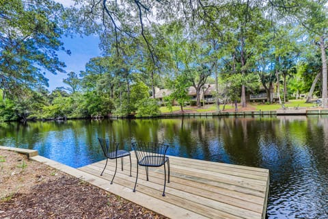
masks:
<svg viewBox="0 0 328 219"><path fill-rule="evenodd" d="M167 149L169 148L168 144L161 143L141 143L141 142L132 142L132 149L135 151L135 157L137 157L137 177L135 178L135 187L138 180L138 171L139 165L146 167L146 176L148 181L148 167L159 167L164 166L164 190L163 196L165 196L165 186L166 186L166 167L168 167L168 179L169 183L169 157L166 156ZM133 189L135 192L135 188Z"/></svg>

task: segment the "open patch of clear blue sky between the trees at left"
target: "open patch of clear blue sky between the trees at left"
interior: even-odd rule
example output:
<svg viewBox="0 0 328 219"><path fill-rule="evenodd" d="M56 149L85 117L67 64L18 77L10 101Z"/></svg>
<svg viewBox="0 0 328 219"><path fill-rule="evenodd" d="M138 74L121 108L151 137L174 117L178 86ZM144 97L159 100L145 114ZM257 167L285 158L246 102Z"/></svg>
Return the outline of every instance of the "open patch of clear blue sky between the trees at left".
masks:
<svg viewBox="0 0 328 219"><path fill-rule="evenodd" d="M57 53L59 60L65 62L66 64L66 68L64 69L67 73L70 71L79 73L80 70L85 70L85 64L90 60L90 58L100 56L98 36L61 38L61 41L64 42L65 49L69 49L72 52L71 55L68 55L63 51L59 51ZM52 91L61 86L67 87L66 84L63 83L63 79L66 77L67 75L64 73L57 73L57 75L46 73L46 78L49 79L48 90Z"/></svg>

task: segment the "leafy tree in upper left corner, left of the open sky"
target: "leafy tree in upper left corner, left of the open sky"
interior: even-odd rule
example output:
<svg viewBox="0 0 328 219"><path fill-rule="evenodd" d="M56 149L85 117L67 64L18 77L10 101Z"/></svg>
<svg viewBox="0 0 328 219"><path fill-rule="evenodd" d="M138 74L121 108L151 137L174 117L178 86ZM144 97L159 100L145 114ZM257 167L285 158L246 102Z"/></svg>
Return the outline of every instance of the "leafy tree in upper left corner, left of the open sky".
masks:
<svg viewBox="0 0 328 219"><path fill-rule="evenodd" d="M25 88L48 86L42 70L64 73L56 51L64 34L63 8L50 0L1 1L0 89L5 96L23 94Z"/></svg>

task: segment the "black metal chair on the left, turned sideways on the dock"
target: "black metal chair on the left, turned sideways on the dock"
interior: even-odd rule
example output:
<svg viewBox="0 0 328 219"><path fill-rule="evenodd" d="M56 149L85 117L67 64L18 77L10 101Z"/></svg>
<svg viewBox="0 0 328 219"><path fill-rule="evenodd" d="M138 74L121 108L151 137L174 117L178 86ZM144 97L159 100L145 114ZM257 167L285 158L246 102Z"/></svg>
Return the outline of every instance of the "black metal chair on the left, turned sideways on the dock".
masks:
<svg viewBox="0 0 328 219"><path fill-rule="evenodd" d="M113 184L114 177L116 175L116 170L118 169L118 158L121 158L121 166L123 171L123 157L130 157L130 177L131 175L131 154L128 151L125 150L119 150L118 147L120 146L119 143L116 142L109 142L108 139L105 138L98 138L102 152L104 153L106 157L106 164L105 168L107 166L108 159L115 159L116 165L115 165L115 172L113 175L113 179L111 179L111 184ZM102 173L104 173L105 168L102 170L100 176L102 176Z"/></svg>

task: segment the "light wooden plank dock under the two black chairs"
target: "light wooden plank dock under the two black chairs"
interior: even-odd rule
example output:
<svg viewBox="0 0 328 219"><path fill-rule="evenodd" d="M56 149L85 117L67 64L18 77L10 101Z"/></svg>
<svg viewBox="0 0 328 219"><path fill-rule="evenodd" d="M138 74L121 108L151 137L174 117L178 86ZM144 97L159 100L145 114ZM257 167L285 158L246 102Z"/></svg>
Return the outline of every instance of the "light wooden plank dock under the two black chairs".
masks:
<svg viewBox="0 0 328 219"><path fill-rule="evenodd" d="M124 158L124 171L119 159L113 185L115 160L109 160L101 177L107 180L109 192L168 218L265 218L269 170L169 156L171 178L163 197L163 166L149 168L149 181L144 168L139 168L137 191L132 191L137 161L133 152L131 157L133 177L129 177L128 159ZM79 170L97 179L104 166L105 160ZM115 189L118 186L120 189Z"/></svg>

